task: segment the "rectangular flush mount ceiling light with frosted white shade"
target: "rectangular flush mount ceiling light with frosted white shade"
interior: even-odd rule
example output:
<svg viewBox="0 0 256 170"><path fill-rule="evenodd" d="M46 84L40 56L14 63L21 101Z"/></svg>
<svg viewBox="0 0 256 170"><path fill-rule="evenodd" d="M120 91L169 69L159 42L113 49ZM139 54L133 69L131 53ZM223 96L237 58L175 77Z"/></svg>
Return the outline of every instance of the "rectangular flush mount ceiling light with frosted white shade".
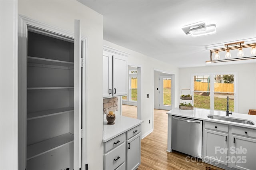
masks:
<svg viewBox="0 0 256 170"><path fill-rule="evenodd" d="M186 35L190 34L192 37L206 36L206 35L216 33L216 25L215 24L206 25L205 22L201 21L201 22L184 26L182 30Z"/></svg>

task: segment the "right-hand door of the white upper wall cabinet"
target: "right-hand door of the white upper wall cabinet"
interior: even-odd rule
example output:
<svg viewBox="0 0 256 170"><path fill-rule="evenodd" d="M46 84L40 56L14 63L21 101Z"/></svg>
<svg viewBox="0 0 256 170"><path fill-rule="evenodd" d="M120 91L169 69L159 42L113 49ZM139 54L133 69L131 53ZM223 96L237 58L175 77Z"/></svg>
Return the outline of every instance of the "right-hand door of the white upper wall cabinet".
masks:
<svg viewBox="0 0 256 170"><path fill-rule="evenodd" d="M126 57L113 55L113 96L127 95Z"/></svg>

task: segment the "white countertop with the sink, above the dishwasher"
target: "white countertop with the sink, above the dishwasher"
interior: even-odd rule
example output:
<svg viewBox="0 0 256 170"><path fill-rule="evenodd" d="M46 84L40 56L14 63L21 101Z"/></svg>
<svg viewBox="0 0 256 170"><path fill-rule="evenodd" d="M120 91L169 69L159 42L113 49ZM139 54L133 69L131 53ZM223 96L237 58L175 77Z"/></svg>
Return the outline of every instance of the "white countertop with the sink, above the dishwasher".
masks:
<svg viewBox="0 0 256 170"><path fill-rule="evenodd" d="M239 126L239 127L256 129L256 115L247 115L247 114L241 114L241 113L232 113L232 115L229 115L230 118L249 120L254 123L254 125L248 125L248 124L243 124L243 123L210 119L207 117L208 115L219 115L219 116L226 117L226 111L210 111L208 109L198 109L198 108L194 108L194 110L181 110L181 109L176 108L176 109L172 109L172 110L168 111L167 114L180 116L180 117L187 117L187 118L192 118L192 119L198 119L198 120L203 120L203 121L223 123L223 124L227 124L227 125L235 125L235 126Z"/></svg>

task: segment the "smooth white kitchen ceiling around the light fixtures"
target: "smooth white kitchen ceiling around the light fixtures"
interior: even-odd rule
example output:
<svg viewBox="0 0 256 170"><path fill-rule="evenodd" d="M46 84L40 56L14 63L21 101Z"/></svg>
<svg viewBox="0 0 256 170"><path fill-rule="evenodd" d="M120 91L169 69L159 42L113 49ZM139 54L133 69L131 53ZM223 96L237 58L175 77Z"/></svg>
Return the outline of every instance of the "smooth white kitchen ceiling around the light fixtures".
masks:
<svg viewBox="0 0 256 170"><path fill-rule="evenodd" d="M205 66L205 61L210 60L207 45L256 40L256 0L79 2L103 15L104 40L177 67ZM183 26L200 21L216 24L217 33L197 38L184 34ZM255 62L255 59L244 62ZM232 64L224 62L229 63ZM220 63L210 65L217 64Z"/></svg>

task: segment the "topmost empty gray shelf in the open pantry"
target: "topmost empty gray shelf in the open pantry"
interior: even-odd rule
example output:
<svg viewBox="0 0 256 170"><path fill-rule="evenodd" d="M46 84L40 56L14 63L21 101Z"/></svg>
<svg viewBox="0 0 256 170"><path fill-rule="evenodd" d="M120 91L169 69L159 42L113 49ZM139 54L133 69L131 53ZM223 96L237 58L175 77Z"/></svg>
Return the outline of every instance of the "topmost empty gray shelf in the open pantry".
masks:
<svg viewBox="0 0 256 170"><path fill-rule="evenodd" d="M28 56L28 63L58 65L58 66L65 66L65 67L74 66L74 62L60 61L60 60L47 59L47 58L39 58L39 57L30 57L30 56Z"/></svg>

